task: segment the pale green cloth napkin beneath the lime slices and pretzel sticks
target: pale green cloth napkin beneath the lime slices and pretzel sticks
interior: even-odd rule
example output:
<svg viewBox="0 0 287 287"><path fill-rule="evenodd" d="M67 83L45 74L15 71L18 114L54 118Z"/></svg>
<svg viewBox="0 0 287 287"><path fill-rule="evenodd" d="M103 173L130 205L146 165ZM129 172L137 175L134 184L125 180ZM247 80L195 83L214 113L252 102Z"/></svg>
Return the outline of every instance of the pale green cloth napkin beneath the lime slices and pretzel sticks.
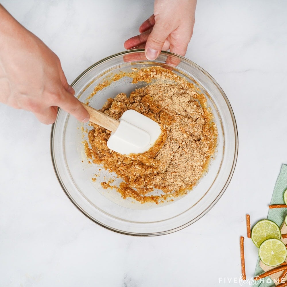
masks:
<svg viewBox="0 0 287 287"><path fill-rule="evenodd" d="M270 204L284 204L283 194L287 188L287 164L282 164L279 177L274 187L272 199ZM268 211L267 219L275 222L279 227L287 215L287 208L272 208ZM259 266L259 258L255 269L255 276L262 274L264 271ZM273 280L268 276L264 281L254 281L253 286L272 287L275 286Z"/></svg>

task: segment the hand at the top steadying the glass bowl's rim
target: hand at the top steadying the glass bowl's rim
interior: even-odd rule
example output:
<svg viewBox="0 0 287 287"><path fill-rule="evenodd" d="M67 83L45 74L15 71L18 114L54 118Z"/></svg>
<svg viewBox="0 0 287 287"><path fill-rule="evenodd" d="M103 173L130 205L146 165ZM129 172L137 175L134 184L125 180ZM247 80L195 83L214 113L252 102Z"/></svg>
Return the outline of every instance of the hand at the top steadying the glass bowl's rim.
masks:
<svg viewBox="0 0 287 287"><path fill-rule="evenodd" d="M196 0L155 0L154 14L139 27L140 34L124 43L125 49L145 48L154 60L161 50L184 56L193 33Z"/></svg>

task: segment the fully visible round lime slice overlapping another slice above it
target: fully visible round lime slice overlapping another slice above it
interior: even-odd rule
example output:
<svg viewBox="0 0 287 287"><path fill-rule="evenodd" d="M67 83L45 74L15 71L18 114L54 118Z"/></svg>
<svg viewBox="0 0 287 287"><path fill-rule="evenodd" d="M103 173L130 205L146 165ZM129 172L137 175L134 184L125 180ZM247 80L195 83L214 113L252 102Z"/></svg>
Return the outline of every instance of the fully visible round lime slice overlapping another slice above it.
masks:
<svg viewBox="0 0 287 287"><path fill-rule="evenodd" d="M280 265L286 260L286 257L286 246L278 239L267 239L259 247L259 258L268 266Z"/></svg>

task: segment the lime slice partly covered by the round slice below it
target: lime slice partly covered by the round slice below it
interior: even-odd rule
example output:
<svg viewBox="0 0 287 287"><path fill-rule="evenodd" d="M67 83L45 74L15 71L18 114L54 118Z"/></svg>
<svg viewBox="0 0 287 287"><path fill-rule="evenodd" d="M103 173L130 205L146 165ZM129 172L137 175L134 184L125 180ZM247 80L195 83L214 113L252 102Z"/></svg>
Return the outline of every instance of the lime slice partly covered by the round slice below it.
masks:
<svg viewBox="0 0 287 287"><path fill-rule="evenodd" d="M258 221L252 228L251 239L259 247L260 244L269 238L281 238L280 228L271 220L263 219Z"/></svg>

